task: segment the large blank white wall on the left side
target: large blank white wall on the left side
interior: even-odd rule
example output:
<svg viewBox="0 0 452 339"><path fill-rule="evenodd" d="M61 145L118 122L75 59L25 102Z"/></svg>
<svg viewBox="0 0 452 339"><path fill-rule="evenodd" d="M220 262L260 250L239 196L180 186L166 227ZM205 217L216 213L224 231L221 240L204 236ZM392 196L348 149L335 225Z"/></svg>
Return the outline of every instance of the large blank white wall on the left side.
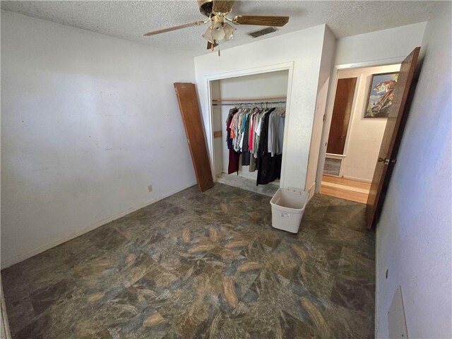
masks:
<svg viewBox="0 0 452 339"><path fill-rule="evenodd" d="M2 266L194 184L172 85L193 79L192 58L1 11Z"/></svg>

